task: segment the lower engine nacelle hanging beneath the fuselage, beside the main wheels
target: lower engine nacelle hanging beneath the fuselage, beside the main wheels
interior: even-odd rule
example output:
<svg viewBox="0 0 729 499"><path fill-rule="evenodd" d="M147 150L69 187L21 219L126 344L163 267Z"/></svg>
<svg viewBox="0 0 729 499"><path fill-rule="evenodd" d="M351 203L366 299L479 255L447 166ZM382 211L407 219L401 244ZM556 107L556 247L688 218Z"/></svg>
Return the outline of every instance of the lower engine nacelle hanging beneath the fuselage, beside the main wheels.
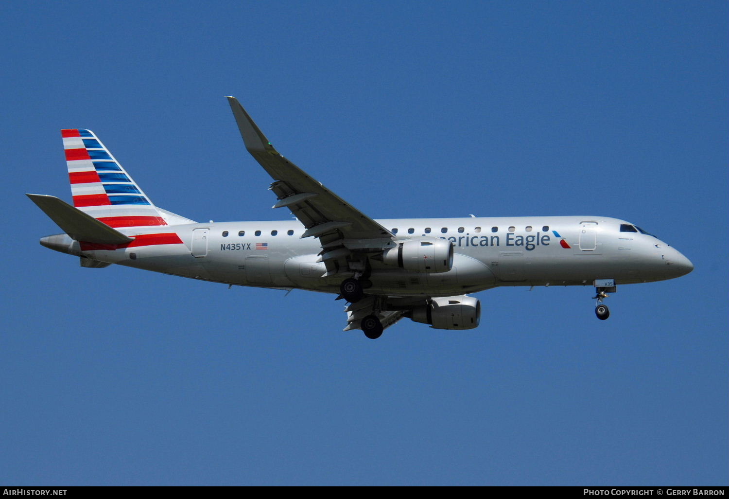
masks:
<svg viewBox="0 0 729 499"><path fill-rule="evenodd" d="M436 329L473 329L481 320L481 302L466 295L432 298L427 305L416 306L405 317Z"/></svg>

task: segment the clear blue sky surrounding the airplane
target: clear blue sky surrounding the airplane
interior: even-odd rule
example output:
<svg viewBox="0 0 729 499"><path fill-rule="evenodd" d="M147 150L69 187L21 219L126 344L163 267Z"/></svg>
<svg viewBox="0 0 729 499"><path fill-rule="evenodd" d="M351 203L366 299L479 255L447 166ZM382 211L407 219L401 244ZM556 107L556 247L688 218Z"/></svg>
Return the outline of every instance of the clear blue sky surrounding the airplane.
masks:
<svg viewBox="0 0 729 499"><path fill-rule="evenodd" d="M724 1L4 2L4 484L727 484ZM695 264L343 333L330 295L46 250L90 128L155 204L276 220L237 96L372 217L596 214Z"/></svg>

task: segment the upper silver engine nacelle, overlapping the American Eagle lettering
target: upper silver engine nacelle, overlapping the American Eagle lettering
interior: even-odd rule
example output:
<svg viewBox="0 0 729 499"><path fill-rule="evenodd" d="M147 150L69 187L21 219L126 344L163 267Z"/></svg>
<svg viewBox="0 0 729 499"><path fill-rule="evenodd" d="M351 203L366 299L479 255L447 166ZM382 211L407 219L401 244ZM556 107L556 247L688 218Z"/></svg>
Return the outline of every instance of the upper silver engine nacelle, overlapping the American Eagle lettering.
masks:
<svg viewBox="0 0 729 499"><path fill-rule="evenodd" d="M408 239L382 255L386 265L405 270L439 274L453 268L453 243L437 237Z"/></svg>

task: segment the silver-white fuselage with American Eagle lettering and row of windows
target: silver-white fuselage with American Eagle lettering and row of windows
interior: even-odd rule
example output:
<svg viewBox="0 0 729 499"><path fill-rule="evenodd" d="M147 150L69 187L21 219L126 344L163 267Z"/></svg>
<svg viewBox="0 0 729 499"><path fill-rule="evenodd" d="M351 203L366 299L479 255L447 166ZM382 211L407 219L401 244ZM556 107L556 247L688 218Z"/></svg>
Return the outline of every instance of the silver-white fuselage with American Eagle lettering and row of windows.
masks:
<svg viewBox="0 0 729 499"><path fill-rule="evenodd" d="M369 292L448 296L498 286L593 285L660 281L687 274L690 261L634 225L608 217L467 217L377 220L397 241L437 237L452 241L453 268L440 274L406 271L372 261ZM628 225L631 231L621 231ZM42 244L104 263L143 268L231 285L300 288L339 293L343 274L324 276L317 239L300 239L297 220L218 222L120 229L128 236L176 235L162 244L116 250L80 247L55 237ZM157 241L159 242L159 241ZM64 246L65 245L65 246Z"/></svg>

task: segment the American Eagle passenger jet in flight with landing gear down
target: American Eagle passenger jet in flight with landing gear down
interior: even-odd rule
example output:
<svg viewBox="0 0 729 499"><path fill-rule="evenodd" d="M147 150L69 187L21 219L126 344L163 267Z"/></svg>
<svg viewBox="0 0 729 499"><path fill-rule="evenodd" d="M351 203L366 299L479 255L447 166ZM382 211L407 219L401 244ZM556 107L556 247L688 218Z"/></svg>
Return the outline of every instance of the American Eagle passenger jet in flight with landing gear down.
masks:
<svg viewBox="0 0 729 499"><path fill-rule="evenodd" d="M198 223L144 194L90 130L61 131L73 206L26 194L63 233L40 244L80 257L227 285L333 293L347 325L377 339L403 317L476 328L477 293L501 286L595 287L595 314L617 285L674 279L693 264L638 225L593 215L373 220L284 158L234 97L248 152L273 178L274 209L295 219Z"/></svg>

